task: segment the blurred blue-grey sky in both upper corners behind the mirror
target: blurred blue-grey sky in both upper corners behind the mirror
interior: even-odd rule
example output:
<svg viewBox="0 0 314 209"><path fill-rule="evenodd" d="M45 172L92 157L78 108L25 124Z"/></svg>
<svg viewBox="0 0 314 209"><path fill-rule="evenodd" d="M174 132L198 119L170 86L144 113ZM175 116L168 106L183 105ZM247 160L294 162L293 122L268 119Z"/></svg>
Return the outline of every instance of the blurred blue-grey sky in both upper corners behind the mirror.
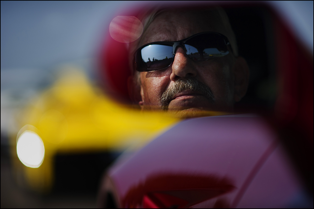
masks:
<svg viewBox="0 0 314 209"><path fill-rule="evenodd" d="M271 3L313 50L313 1ZM1 1L1 70L91 58L119 10L137 4L143 2Z"/></svg>

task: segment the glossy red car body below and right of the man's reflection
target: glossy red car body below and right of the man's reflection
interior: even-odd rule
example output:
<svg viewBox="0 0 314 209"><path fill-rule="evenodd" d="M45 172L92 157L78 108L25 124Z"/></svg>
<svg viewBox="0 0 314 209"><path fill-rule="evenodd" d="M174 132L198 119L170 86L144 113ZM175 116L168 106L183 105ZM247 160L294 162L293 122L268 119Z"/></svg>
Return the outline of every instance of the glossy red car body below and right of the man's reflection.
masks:
<svg viewBox="0 0 314 209"><path fill-rule="evenodd" d="M313 54L261 6L275 43L272 108L182 121L108 170L100 207L313 207Z"/></svg>

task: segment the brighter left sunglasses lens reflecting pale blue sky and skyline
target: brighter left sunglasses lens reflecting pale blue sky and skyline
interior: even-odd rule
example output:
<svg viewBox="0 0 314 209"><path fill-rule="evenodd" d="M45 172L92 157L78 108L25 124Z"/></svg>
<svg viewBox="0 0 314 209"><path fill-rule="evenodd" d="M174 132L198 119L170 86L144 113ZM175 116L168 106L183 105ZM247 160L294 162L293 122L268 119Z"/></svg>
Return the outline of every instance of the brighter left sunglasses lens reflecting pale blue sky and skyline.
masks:
<svg viewBox="0 0 314 209"><path fill-rule="evenodd" d="M141 50L142 68L140 71L154 71L168 67L172 61L172 46L152 44Z"/></svg>

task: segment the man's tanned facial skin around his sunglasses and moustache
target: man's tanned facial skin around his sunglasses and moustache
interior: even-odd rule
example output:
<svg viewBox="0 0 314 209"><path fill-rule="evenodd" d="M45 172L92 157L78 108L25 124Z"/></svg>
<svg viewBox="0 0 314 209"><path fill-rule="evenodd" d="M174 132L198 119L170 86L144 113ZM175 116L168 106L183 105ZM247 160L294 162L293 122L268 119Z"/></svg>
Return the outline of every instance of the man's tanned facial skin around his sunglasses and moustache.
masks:
<svg viewBox="0 0 314 209"><path fill-rule="evenodd" d="M154 41L178 41L205 31L224 34L219 27L208 24L208 20L195 12L163 12L149 25L139 46ZM142 101L139 104L142 109L168 109L183 117L198 110L232 111L234 62L232 53L196 62L187 56L183 48L178 47L173 63L168 68L140 73ZM202 91L185 88L172 94L166 104L162 102L165 94L178 85L178 81L191 79L205 86L212 98Z"/></svg>

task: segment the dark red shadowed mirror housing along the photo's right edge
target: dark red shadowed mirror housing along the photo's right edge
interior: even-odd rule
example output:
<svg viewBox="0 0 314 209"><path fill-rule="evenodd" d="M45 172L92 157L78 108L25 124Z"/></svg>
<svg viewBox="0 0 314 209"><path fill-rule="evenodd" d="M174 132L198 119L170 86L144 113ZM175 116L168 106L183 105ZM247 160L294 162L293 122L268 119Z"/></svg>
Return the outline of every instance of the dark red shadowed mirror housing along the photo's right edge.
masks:
<svg viewBox="0 0 314 209"><path fill-rule="evenodd" d="M278 96L270 123L313 193L313 54L272 10Z"/></svg>

